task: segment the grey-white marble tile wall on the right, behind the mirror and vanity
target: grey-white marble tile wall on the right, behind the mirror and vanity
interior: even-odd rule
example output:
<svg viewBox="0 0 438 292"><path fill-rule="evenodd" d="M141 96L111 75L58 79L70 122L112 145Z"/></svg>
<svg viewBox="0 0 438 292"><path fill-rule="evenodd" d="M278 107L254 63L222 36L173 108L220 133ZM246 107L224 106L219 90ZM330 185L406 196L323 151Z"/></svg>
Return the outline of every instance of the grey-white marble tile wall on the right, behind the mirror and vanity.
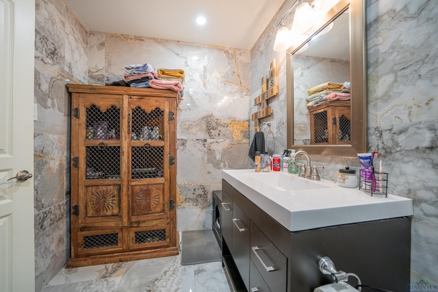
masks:
<svg viewBox="0 0 438 292"><path fill-rule="evenodd" d="M279 94L270 105L275 150L285 148L285 53L272 50L275 25L293 5L285 1L251 50L250 94L260 93L259 78L272 58L279 62ZM389 191L412 198L411 280L438 283L438 1L368 0L368 150L389 176ZM293 13L285 20L292 25ZM254 112L255 107L250 111ZM253 133L250 124L250 133ZM278 151L277 151L278 152ZM311 157L333 179L357 159ZM407 283L408 284L408 283Z"/></svg>

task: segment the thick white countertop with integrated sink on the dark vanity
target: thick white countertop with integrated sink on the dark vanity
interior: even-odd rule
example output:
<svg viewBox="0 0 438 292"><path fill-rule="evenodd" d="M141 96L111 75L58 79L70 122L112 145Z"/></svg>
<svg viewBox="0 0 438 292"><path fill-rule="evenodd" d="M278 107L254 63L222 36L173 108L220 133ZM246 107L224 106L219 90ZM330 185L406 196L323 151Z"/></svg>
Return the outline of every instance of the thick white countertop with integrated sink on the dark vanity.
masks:
<svg viewBox="0 0 438 292"><path fill-rule="evenodd" d="M413 215L409 198L371 196L297 174L222 170L222 178L290 231Z"/></svg>

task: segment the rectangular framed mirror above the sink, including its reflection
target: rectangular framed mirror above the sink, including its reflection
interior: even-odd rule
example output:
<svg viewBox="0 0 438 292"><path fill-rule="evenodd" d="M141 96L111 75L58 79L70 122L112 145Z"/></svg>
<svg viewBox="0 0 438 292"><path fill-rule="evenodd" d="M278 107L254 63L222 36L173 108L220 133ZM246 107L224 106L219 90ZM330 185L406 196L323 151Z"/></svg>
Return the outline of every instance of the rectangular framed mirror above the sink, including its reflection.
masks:
<svg viewBox="0 0 438 292"><path fill-rule="evenodd" d="M289 48L287 148L342 157L365 152L364 2L339 1L326 13L321 27ZM331 86L315 89L318 85Z"/></svg>

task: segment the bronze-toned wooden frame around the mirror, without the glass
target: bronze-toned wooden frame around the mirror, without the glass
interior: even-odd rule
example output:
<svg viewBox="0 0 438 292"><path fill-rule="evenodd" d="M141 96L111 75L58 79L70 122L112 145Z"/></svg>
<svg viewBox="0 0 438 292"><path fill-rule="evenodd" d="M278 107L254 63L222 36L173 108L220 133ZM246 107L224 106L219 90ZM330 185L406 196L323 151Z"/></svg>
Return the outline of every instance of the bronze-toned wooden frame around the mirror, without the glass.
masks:
<svg viewBox="0 0 438 292"><path fill-rule="evenodd" d="M350 8L350 81L351 81L351 128L350 144L329 145L294 145L294 52L300 49L315 34L334 21L339 14ZM287 85L287 148L304 150L309 155L355 157L357 153L366 152L367 119L367 47L366 47L366 7L365 0L341 0L324 18L324 25L305 42L292 45L286 51L286 85Z"/></svg>

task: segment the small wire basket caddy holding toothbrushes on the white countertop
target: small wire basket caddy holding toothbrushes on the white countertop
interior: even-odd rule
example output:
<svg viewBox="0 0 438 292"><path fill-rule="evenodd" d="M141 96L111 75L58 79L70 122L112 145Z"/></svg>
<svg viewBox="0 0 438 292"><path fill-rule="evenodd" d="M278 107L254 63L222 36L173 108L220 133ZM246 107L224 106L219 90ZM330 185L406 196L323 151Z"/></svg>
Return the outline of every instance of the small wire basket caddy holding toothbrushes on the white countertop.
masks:
<svg viewBox="0 0 438 292"><path fill-rule="evenodd" d="M359 170L359 189L371 196L388 196L388 173Z"/></svg>

